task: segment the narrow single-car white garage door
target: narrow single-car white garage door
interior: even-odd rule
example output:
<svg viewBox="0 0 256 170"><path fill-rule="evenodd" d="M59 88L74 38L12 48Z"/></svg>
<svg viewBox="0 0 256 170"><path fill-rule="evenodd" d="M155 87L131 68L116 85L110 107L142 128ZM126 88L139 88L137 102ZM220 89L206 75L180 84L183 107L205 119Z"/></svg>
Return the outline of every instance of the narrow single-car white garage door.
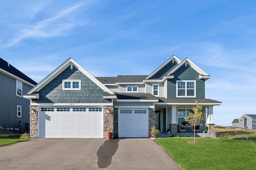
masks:
<svg viewBox="0 0 256 170"><path fill-rule="evenodd" d="M119 109L118 137L148 137L148 109Z"/></svg>

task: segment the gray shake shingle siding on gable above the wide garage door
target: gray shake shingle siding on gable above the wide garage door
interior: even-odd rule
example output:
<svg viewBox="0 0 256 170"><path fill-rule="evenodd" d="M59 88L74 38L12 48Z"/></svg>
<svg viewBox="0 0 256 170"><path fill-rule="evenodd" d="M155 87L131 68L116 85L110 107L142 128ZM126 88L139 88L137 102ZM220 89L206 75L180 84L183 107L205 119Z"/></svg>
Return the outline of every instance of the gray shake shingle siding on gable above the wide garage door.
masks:
<svg viewBox="0 0 256 170"><path fill-rule="evenodd" d="M62 90L62 80L81 80L81 90ZM104 91L80 70L66 68L40 91L36 103L111 103L103 98Z"/></svg>

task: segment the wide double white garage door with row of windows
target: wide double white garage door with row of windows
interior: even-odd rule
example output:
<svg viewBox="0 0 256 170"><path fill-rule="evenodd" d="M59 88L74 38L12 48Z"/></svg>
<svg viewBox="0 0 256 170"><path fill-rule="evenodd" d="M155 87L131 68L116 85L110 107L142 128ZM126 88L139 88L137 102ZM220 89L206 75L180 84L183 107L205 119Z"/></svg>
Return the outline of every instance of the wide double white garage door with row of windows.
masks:
<svg viewBox="0 0 256 170"><path fill-rule="evenodd" d="M41 107L38 124L38 137L104 137L102 107Z"/></svg>

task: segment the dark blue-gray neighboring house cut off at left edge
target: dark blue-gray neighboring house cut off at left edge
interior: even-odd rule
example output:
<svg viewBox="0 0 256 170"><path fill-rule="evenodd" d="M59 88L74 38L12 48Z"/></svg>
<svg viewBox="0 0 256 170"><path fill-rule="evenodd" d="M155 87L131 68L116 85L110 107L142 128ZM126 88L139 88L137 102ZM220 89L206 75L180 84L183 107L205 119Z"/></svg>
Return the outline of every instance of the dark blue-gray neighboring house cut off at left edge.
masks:
<svg viewBox="0 0 256 170"><path fill-rule="evenodd" d="M0 58L0 131L29 130L30 100L23 98L37 83Z"/></svg>

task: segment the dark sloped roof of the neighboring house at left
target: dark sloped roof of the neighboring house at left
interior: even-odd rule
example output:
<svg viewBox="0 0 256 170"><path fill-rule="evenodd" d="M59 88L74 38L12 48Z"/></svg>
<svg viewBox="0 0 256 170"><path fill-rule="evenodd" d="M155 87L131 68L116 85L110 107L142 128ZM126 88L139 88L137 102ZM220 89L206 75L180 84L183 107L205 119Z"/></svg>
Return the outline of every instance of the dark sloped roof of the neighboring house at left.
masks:
<svg viewBox="0 0 256 170"><path fill-rule="evenodd" d="M29 84L30 86L35 86L37 82L26 76L20 70L9 64L7 61L0 58L0 72L7 74L15 79L21 79L23 82Z"/></svg>

